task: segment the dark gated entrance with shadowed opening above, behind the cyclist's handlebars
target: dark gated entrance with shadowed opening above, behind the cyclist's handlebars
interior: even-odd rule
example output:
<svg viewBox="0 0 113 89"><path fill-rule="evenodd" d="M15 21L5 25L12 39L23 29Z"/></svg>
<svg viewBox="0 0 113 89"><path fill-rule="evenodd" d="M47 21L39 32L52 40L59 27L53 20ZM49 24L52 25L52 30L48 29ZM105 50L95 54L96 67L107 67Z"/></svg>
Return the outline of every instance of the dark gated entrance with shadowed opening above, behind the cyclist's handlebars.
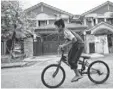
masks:
<svg viewBox="0 0 113 89"><path fill-rule="evenodd" d="M58 36L58 34L52 34L49 36L42 35L42 38L37 38L37 41L34 41L33 44L34 56L57 54L58 46L62 44L63 41L64 41L63 37ZM66 50L68 50L68 48Z"/></svg>

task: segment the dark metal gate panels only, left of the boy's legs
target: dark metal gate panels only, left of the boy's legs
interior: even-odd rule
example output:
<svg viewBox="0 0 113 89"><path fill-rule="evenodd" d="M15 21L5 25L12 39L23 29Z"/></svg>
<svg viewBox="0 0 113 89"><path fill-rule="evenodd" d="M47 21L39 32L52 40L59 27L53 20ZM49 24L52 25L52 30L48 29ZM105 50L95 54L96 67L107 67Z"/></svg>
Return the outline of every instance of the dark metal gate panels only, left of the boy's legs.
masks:
<svg viewBox="0 0 113 89"><path fill-rule="evenodd" d="M41 42L38 40L37 42L34 42L33 49L34 49L34 56L39 56L39 55L50 55L50 54L57 54L58 51L58 46L59 44L62 44L63 42L58 42L58 41L45 41ZM70 47L67 47L65 49L65 52L69 51Z"/></svg>

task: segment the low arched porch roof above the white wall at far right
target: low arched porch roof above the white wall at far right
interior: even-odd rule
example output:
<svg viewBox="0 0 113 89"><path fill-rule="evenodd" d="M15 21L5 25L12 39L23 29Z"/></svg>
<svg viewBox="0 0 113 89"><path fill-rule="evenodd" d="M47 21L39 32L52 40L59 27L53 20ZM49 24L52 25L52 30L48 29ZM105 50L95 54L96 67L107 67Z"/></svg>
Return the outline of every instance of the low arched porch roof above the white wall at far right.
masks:
<svg viewBox="0 0 113 89"><path fill-rule="evenodd" d="M102 25L104 27L102 27ZM94 34L95 32L97 32L101 29L106 29L106 30L109 30L110 32L113 32L113 25L108 24L106 22L101 22L101 23L95 25L94 27L90 28L89 31L91 31L91 34Z"/></svg>

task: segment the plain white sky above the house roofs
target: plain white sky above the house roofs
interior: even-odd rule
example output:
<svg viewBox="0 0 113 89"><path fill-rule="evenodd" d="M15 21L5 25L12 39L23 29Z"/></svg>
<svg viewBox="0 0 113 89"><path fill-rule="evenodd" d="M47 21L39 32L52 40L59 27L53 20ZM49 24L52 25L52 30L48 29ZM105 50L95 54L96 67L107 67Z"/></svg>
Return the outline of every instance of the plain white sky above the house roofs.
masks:
<svg viewBox="0 0 113 89"><path fill-rule="evenodd" d="M66 12L80 15L92 8L105 3L107 0L18 0L23 9L27 9L40 2L44 2ZM113 2L113 0L109 0Z"/></svg>

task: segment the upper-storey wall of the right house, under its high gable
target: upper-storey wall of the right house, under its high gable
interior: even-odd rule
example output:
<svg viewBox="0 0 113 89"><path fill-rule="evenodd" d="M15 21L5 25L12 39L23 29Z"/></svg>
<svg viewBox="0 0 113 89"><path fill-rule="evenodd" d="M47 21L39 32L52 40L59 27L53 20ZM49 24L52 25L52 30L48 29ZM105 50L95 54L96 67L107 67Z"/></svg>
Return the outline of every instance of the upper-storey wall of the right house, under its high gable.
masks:
<svg viewBox="0 0 113 89"><path fill-rule="evenodd" d="M108 22L108 18L106 18L106 12L113 12L113 5L110 4L106 4L100 8L98 8L97 10L94 10L88 14L86 14L84 18L84 25L87 25L89 28L93 27L94 25L100 23L100 19L102 19L104 22ZM94 16L95 14L95 16ZM97 15L97 16L96 16ZM90 21L88 21L87 19L91 19ZM86 20L85 20L86 19ZM111 17L109 18L111 19ZM95 21L94 21L95 20ZM112 23L112 22L111 22ZM113 24L113 23L112 23Z"/></svg>

